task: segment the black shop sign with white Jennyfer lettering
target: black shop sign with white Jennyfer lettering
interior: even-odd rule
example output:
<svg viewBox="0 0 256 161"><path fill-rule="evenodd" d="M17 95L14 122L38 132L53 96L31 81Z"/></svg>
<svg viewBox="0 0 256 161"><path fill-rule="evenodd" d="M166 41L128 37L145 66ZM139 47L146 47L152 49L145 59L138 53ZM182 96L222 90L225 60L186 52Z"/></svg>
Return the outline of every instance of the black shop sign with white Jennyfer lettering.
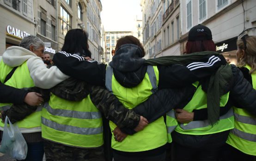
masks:
<svg viewBox="0 0 256 161"><path fill-rule="evenodd" d="M238 37L233 37L231 39L215 43L216 52L222 53L237 50L237 40Z"/></svg>

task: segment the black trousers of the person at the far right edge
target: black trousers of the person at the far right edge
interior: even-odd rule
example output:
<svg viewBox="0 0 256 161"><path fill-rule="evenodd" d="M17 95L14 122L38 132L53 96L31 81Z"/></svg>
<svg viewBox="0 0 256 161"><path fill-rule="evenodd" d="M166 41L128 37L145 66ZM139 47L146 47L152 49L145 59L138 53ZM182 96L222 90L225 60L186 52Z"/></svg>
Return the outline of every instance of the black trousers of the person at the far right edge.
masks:
<svg viewBox="0 0 256 161"><path fill-rule="evenodd" d="M226 144L221 151L220 161L256 161L256 156L245 154L229 144Z"/></svg>

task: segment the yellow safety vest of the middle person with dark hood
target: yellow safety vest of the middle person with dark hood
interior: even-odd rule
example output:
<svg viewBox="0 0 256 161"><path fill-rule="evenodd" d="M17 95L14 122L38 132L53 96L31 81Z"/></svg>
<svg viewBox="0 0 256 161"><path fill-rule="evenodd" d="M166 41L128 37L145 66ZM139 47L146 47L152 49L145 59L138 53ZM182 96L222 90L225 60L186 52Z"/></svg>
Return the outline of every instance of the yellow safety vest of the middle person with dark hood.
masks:
<svg viewBox="0 0 256 161"><path fill-rule="evenodd" d="M147 66L146 75L140 84L133 88L126 88L116 81L112 67L108 66L106 71L106 87L126 108L133 109L138 104L146 101L153 92L157 91L158 75L156 66ZM115 128L116 125L110 121L111 131ZM166 126L164 118L160 117L158 120L150 123L142 131L134 135L128 135L122 142L115 141L112 133L111 146L115 150L140 152L158 148L165 145L166 142Z"/></svg>

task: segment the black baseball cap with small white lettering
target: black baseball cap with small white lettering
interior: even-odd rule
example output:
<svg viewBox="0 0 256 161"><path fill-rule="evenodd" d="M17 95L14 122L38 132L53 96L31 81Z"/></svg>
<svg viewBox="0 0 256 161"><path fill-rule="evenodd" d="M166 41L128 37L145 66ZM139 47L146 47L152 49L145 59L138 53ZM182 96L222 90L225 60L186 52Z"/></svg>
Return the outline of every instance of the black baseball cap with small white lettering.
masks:
<svg viewBox="0 0 256 161"><path fill-rule="evenodd" d="M189 30L189 41L213 40L212 32L204 25L198 24Z"/></svg>

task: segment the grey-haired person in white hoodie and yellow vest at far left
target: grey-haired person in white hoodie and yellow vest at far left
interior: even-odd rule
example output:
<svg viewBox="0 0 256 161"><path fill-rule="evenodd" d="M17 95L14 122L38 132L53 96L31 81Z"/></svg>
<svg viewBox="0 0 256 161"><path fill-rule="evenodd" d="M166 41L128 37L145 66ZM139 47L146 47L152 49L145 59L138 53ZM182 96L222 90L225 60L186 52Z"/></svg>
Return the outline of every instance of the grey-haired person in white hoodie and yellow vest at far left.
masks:
<svg viewBox="0 0 256 161"><path fill-rule="evenodd" d="M51 88L69 76L64 75L57 67L47 69L43 63L44 51L43 41L36 36L29 35L21 40L19 46L11 46L3 53L0 60L0 81L4 83L6 76L17 67L12 77L4 84L15 88L29 88L38 86ZM54 75L54 76L53 76ZM0 110L7 110L12 104L0 104ZM37 104L40 105L40 104ZM41 136L41 110L18 121L18 127L23 134L27 144L28 153L25 160L43 160L43 140ZM4 123L0 120L0 131L3 131Z"/></svg>

